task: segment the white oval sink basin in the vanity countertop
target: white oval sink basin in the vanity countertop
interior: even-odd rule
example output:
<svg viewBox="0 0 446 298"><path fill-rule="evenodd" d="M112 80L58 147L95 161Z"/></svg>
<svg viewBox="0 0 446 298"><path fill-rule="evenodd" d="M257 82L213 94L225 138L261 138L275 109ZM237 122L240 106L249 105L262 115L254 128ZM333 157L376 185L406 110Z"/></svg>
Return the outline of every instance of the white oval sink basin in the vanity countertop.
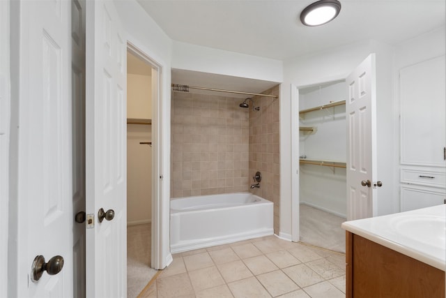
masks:
<svg viewBox="0 0 446 298"><path fill-rule="evenodd" d="M446 218L438 215L400 215L390 221L390 228L399 234L420 244L446 247Z"/></svg>

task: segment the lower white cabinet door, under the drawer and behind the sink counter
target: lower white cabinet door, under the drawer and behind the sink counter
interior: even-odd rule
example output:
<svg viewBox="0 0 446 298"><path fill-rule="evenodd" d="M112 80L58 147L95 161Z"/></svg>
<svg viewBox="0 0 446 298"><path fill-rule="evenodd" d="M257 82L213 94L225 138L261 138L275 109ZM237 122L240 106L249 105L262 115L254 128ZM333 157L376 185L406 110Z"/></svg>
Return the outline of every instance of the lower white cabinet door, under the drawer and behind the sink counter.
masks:
<svg viewBox="0 0 446 298"><path fill-rule="evenodd" d="M401 185L401 211L444 204L446 193L441 188Z"/></svg>

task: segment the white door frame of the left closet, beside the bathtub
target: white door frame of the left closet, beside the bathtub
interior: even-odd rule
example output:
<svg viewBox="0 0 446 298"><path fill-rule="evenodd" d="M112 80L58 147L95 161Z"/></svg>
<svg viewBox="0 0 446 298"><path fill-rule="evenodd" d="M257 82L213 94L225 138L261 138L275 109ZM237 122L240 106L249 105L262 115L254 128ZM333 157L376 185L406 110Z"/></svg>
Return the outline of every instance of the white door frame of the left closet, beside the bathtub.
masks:
<svg viewBox="0 0 446 298"><path fill-rule="evenodd" d="M139 59L144 60L152 69L157 72L157 77L152 77L152 82L156 82L152 86L152 225L151 225L151 267L154 269L163 269L163 250L162 248L169 243L163 243L163 219L164 212L162 210L162 66L155 59L151 58L146 52L140 50L130 40L127 40L127 50ZM169 229L168 229L169 230Z"/></svg>

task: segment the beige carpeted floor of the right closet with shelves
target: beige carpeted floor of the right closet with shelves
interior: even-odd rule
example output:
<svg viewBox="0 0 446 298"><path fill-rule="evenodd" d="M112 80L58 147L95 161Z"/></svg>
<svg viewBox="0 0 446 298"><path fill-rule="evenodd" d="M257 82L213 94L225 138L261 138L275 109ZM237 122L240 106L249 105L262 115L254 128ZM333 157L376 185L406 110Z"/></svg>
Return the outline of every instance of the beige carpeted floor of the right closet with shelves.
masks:
<svg viewBox="0 0 446 298"><path fill-rule="evenodd" d="M300 204L300 241L314 246L346 252L346 231L341 228L345 218Z"/></svg>

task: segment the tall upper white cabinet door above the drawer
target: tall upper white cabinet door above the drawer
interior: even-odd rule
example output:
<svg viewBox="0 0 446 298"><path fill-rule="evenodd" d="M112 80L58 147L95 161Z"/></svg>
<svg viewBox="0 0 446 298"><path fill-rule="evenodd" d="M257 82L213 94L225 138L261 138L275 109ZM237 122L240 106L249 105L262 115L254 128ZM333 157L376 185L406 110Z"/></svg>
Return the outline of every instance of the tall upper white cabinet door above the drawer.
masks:
<svg viewBox="0 0 446 298"><path fill-rule="evenodd" d="M402 68L401 164L445 167L445 56Z"/></svg>

